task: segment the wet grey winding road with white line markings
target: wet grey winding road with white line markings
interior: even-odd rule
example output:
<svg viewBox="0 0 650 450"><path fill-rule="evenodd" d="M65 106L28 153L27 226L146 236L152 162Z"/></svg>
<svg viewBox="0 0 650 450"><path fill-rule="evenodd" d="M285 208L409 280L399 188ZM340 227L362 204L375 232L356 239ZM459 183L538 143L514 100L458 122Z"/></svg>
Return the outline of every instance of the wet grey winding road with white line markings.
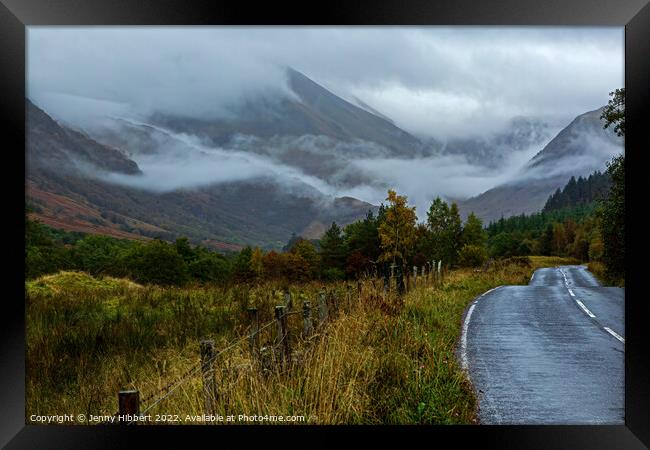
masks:
<svg viewBox="0 0 650 450"><path fill-rule="evenodd" d="M460 359L483 424L623 424L624 289L584 266L539 269L465 313Z"/></svg>

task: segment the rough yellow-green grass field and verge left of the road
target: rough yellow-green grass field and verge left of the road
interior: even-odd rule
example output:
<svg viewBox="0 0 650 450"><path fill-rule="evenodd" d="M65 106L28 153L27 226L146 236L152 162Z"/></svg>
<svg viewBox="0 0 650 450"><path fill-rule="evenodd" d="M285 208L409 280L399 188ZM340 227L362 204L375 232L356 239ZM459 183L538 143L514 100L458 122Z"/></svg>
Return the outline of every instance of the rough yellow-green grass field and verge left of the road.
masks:
<svg viewBox="0 0 650 450"><path fill-rule="evenodd" d="M476 399L455 348L466 306L503 284L527 284L538 267L571 264L533 257L485 272L449 272L442 286L420 285L401 298L384 298L380 282L328 284L332 316L303 339L302 302L316 283L291 286L288 317L291 362L279 364L275 325L261 333L254 358L245 339L246 308L260 323L273 320L280 285L140 286L62 272L26 283L27 417L31 414L113 414L118 390L140 391L141 409L199 363L201 338L216 350L241 341L215 361L215 414L302 415L314 424L469 424ZM172 384L173 386L173 384ZM204 412L200 373L188 377L148 413ZM149 398L152 397L152 398Z"/></svg>

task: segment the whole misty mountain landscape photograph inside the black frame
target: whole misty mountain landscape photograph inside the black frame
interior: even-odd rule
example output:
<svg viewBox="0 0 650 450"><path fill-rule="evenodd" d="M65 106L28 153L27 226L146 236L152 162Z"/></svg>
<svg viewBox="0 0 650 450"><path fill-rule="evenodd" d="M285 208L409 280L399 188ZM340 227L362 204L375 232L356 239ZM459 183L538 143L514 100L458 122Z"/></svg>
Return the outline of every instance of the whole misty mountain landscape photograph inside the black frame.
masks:
<svg viewBox="0 0 650 450"><path fill-rule="evenodd" d="M624 426L625 64L624 26L26 26L25 423Z"/></svg>

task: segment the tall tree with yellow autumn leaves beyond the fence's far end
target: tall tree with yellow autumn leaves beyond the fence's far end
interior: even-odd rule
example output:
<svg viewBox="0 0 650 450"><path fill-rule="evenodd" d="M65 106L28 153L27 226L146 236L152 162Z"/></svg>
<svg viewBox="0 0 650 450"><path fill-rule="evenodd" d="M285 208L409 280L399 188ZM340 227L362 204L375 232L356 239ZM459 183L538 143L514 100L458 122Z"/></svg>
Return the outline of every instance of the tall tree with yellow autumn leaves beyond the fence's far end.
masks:
<svg viewBox="0 0 650 450"><path fill-rule="evenodd" d="M407 197L388 191L388 207L379 225L382 253L380 261L404 264L415 244L415 206L408 206Z"/></svg>

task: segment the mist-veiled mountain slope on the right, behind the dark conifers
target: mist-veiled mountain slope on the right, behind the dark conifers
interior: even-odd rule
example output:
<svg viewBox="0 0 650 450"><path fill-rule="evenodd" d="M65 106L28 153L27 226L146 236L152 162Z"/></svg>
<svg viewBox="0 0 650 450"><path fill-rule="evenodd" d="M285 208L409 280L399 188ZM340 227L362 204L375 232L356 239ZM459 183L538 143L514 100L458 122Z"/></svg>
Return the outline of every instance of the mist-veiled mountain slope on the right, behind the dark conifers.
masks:
<svg viewBox="0 0 650 450"><path fill-rule="evenodd" d="M603 129L603 108L581 114L562 129L517 175L507 183L467 200L457 201L461 215L474 212L484 223L540 211L549 196L572 176L603 170L621 153L623 140Z"/></svg>

